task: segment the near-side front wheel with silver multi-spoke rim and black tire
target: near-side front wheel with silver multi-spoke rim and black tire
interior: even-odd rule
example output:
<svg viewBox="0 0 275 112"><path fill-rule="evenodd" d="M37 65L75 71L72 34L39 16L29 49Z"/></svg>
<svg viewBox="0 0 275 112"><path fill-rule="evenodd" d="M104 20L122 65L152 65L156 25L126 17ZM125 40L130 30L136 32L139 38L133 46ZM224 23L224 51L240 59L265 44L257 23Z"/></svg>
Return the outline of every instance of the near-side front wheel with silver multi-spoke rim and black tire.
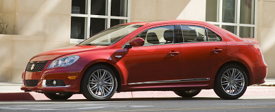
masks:
<svg viewBox="0 0 275 112"><path fill-rule="evenodd" d="M118 88L115 72L108 66L93 66L81 80L81 92L88 100L109 100Z"/></svg>

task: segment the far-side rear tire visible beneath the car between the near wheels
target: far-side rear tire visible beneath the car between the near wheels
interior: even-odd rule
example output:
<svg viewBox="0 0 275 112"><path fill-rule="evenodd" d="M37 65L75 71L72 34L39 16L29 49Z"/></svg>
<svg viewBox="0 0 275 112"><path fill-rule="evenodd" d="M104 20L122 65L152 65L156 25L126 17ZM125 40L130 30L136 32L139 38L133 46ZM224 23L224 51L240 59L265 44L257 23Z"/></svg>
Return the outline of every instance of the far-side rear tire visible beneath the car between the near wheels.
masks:
<svg viewBox="0 0 275 112"><path fill-rule="evenodd" d="M201 89L179 90L179 91L174 91L174 92L178 96L181 96L184 98L191 98L193 96L197 96L197 94L199 94L199 92L201 92Z"/></svg>

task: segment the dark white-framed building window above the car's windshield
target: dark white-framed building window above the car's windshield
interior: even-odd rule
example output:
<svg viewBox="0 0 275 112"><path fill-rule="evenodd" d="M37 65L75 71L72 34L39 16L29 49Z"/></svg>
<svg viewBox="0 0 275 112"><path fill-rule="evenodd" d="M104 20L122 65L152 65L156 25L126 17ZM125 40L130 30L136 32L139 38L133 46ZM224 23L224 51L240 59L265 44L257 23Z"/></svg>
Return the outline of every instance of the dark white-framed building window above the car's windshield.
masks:
<svg viewBox="0 0 275 112"><path fill-rule="evenodd" d="M82 42L96 33L129 23L130 0L72 0L71 43Z"/></svg>

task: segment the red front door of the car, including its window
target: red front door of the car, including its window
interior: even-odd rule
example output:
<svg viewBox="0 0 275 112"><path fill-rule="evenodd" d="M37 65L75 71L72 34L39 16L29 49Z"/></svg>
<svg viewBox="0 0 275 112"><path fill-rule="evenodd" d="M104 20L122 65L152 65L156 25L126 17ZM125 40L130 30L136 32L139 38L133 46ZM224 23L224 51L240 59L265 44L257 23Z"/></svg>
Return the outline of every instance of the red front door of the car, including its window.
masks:
<svg viewBox="0 0 275 112"><path fill-rule="evenodd" d="M175 26L151 27L135 38L144 46L124 48L127 83L173 83L179 78L180 46L175 44Z"/></svg>

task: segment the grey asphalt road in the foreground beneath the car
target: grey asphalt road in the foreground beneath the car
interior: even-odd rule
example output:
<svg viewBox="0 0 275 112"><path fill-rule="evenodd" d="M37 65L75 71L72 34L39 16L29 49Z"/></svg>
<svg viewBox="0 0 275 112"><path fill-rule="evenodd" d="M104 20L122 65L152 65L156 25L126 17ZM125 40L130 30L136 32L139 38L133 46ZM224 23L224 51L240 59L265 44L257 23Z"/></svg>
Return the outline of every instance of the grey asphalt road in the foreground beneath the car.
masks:
<svg viewBox="0 0 275 112"><path fill-rule="evenodd" d="M0 102L0 111L249 111L274 112L275 99L221 98L115 98L110 101L40 100Z"/></svg>

